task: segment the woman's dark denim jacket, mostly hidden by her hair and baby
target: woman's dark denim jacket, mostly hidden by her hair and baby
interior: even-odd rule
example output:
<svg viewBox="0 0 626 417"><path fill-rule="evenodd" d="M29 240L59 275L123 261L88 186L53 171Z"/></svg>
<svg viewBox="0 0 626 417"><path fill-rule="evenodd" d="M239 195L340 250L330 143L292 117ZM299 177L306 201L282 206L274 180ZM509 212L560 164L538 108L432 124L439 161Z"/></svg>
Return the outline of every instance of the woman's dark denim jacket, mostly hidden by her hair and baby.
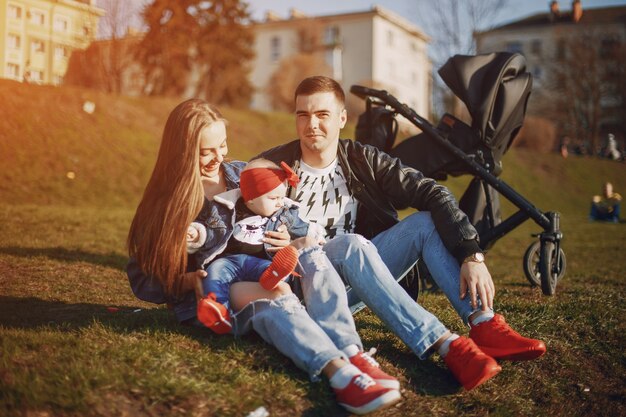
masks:
<svg viewBox="0 0 626 417"><path fill-rule="evenodd" d="M239 187L239 174L245 165L246 163L242 161L222 162L226 189L232 190ZM194 260L189 259L187 271L194 271L195 264ZM134 258L130 258L126 265L126 274L130 288L140 300L155 304L168 303L174 310L176 318L181 322L196 317L196 296L193 291L178 297L166 294L161 282L156 277L146 275Z"/></svg>

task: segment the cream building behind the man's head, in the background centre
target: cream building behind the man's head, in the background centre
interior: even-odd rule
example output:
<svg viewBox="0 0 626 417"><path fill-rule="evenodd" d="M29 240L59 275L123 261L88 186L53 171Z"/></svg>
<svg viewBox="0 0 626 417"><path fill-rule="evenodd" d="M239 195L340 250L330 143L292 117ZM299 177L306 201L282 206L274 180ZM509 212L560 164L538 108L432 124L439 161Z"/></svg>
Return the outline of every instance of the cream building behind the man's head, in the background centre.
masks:
<svg viewBox="0 0 626 417"><path fill-rule="evenodd" d="M346 94L353 84L384 88L420 114L429 114L431 62L428 37L406 19L381 7L364 12L309 17L296 10L281 19L268 12L255 33L251 107L272 109L268 83L284 60L302 52L303 30L316 31L318 51ZM311 34L310 34L311 35ZM306 46L304 46L306 49Z"/></svg>

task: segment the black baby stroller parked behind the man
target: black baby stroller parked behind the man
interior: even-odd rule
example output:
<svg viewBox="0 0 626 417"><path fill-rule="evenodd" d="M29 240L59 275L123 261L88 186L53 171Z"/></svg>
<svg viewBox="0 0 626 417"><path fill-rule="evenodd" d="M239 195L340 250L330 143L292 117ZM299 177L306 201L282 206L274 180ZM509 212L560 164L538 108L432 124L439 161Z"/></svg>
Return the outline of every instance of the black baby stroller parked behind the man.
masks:
<svg viewBox="0 0 626 417"><path fill-rule="evenodd" d="M506 52L455 55L438 72L467 106L471 126L445 114L434 127L387 91L353 85L350 91L366 100L366 111L359 117L355 138L437 180L444 180L447 175L473 175L459 206L476 227L483 249L527 219L533 219L543 232L533 235L538 240L524 254L524 272L531 285L541 286L545 295L553 295L566 265L559 213L540 211L498 179L502 156L522 127L530 95L532 78L526 72L524 57ZM396 114L423 133L393 147ZM504 220L500 217L499 194L519 208ZM423 285L423 279L420 281ZM411 287L404 285L407 291Z"/></svg>

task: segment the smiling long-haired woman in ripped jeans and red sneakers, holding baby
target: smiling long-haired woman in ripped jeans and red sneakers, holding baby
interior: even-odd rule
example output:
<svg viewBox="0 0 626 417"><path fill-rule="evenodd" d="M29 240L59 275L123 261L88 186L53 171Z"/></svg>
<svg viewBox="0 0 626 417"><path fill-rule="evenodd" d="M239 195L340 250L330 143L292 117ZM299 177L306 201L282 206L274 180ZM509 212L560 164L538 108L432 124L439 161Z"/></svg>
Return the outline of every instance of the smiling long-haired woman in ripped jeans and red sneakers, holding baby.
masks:
<svg viewBox="0 0 626 417"><path fill-rule="evenodd" d="M131 259L126 271L134 294L144 301L168 303L185 324L201 325L195 289L198 279L207 275L195 269L189 259L193 255L187 254L189 225L205 204L239 187L244 165L224 159L226 138L226 121L216 108L195 99L179 104L167 119L154 170L128 234ZM220 216L207 226L212 234L226 237L230 211L217 204L213 208ZM266 230L263 242L280 250L289 244L286 229ZM363 353L345 287L322 248L302 249L298 261L299 268L307 270L300 280L306 307L287 285L267 290L259 282L235 282L230 301L241 308L231 317L233 333L254 330L312 380L326 376L337 402L353 413L398 401L398 380ZM247 302L251 298L255 301Z"/></svg>

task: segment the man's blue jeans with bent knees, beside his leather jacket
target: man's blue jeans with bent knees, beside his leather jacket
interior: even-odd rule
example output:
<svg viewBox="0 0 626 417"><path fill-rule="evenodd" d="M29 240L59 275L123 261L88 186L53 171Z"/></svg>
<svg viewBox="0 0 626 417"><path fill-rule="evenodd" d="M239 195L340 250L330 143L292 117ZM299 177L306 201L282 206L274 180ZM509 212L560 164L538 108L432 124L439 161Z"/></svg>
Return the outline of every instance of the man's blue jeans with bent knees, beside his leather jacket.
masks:
<svg viewBox="0 0 626 417"><path fill-rule="evenodd" d="M371 242L360 235L339 235L326 243L324 251L351 287L351 308L364 302L420 359L428 357L447 329L397 283L419 258L465 323L476 311L469 297L460 298L459 264L443 245L428 212L406 217Z"/></svg>

